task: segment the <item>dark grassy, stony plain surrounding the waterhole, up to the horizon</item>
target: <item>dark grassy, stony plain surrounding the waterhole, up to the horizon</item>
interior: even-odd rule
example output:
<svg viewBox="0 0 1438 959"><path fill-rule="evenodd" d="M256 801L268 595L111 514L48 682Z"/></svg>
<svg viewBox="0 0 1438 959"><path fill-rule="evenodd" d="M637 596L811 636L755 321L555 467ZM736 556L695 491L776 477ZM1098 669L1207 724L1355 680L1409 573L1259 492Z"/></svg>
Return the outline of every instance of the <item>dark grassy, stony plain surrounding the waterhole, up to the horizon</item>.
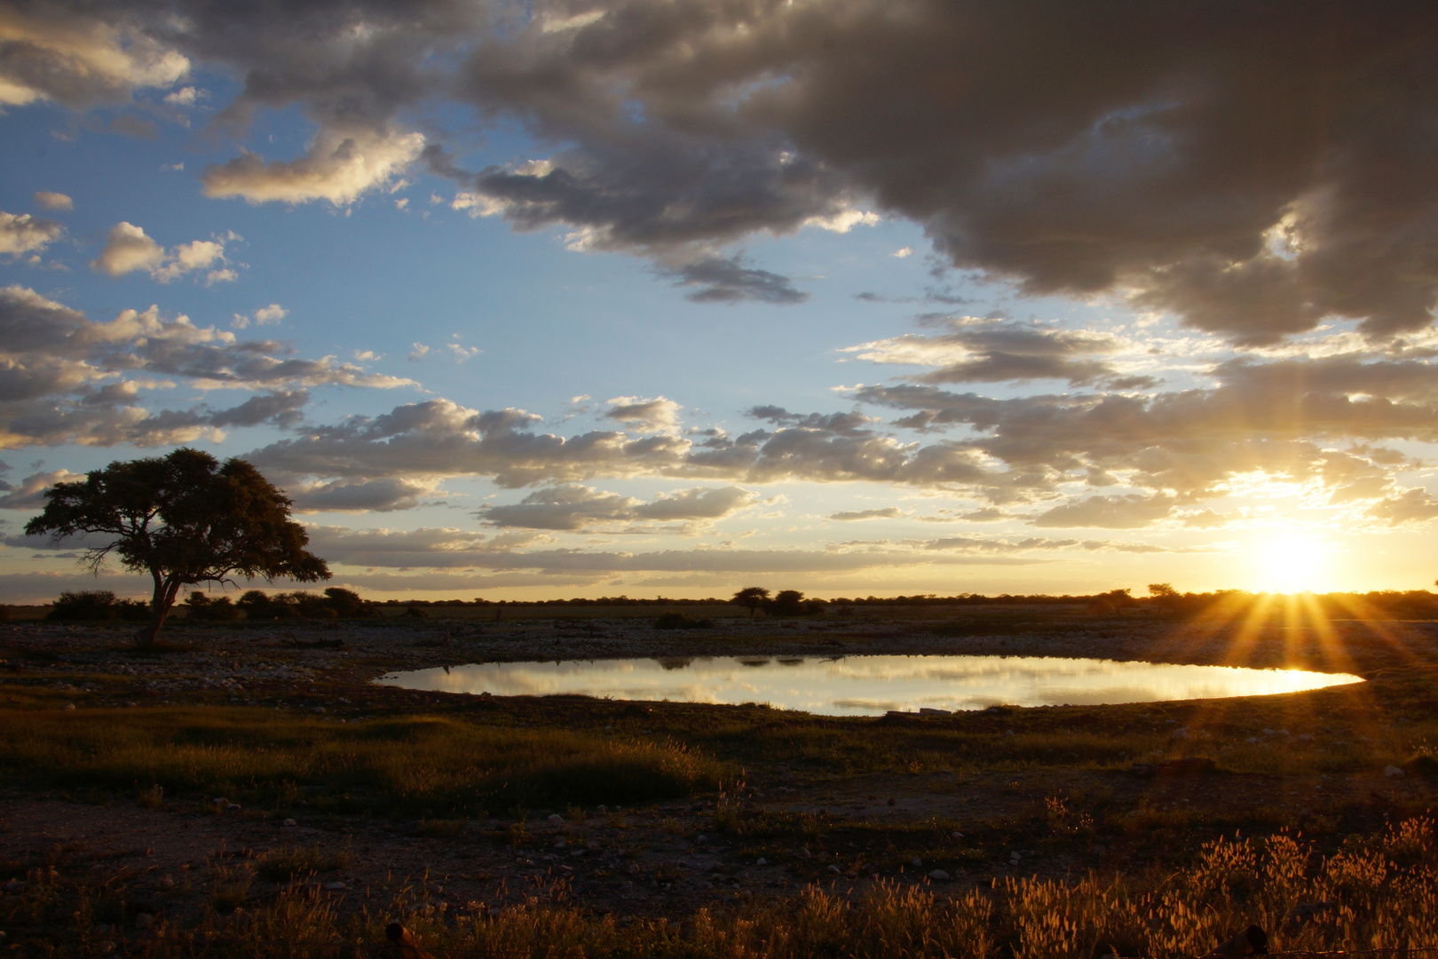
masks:
<svg viewBox="0 0 1438 959"><path fill-rule="evenodd" d="M0 949L1435 949L1435 601L1114 594L792 617L695 602L390 604L286 620L191 610L145 653L132 627L12 608L0 625ZM693 628L661 628L676 625ZM466 663L863 654L1365 682L876 717L374 682Z"/></svg>

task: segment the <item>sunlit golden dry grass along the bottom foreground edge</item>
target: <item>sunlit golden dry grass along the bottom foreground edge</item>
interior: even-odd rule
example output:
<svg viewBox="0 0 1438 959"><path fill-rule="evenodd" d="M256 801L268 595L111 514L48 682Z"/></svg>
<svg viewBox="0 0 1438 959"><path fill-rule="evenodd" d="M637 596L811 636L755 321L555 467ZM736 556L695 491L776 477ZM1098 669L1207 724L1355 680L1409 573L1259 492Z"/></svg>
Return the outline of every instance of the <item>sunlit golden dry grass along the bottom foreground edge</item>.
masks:
<svg viewBox="0 0 1438 959"><path fill-rule="evenodd" d="M0 880L10 877L24 883L22 893L0 900L0 922L13 930L12 955L99 955L101 923L134 919L124 884L96 876L78 851L0 864ZM210 916L191 929L165 927L161 919L161 935L145 942L145 955L383 953L384 927L395 919L426 949L482 956L1192 956L1251 923L1267 930L1274 952L1438 947L1438 843L1426 817L1355 837L1330 855L1290 834L1224 837L1169 871L1090 873L1070 881L1009 877L951 894L926 881L861 883L853 896L811 884L788 900L627 923L567 904L561 886L495 913L437 909L424 884L388 900L368 899L348 914L308 890L233 912L244 903L244 883L243 870L214 874ZM1332 907L1303 922L1291 912L1299 903Z"/></svg>

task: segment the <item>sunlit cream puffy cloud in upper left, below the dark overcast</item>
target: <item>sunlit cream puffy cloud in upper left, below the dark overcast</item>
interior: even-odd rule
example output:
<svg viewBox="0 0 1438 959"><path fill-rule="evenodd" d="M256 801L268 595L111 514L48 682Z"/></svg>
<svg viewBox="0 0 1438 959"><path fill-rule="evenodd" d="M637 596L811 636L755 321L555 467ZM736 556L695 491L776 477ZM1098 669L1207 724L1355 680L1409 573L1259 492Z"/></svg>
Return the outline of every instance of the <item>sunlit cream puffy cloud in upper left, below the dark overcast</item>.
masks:
<svg viewBox="0 0 1438 959"><path fill-rule="evenodd" d="M354 203L391 184L424 148L424 134L372 129L321 129L305 155L265 162L253 152L200 174L207 197L237 197L249 203Z"/></svg>

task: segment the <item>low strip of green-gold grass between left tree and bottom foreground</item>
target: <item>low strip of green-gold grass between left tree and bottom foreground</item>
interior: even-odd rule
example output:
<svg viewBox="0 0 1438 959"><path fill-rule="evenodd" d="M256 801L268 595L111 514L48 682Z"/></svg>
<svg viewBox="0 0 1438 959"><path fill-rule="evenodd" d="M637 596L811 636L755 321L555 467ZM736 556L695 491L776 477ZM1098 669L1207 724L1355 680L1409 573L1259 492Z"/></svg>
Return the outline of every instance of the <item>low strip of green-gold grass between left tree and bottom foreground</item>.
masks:
<svg viewBox="0 0 1438 959"><path fill-rule="evenodd" d="M0 710L0 769L60 786L203 792L246 805L482 817L516 804L641 802L719 785L676 743L450 716L347 725L260 709Z"/></svg>

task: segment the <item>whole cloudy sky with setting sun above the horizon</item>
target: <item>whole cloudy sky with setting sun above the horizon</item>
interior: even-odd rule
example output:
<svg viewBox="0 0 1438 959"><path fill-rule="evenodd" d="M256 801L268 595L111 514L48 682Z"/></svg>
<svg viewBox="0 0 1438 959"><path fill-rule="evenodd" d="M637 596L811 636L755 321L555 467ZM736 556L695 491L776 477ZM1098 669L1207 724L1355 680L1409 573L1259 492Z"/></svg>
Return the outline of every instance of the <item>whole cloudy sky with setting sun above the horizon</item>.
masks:
<svg viewBox="0 0 1438 959"><path fill-rule="evenodd" d="M377 600L1431 587L1435 40L0 0L0 601L147 592L23 526L177 446Z"/></svg>

